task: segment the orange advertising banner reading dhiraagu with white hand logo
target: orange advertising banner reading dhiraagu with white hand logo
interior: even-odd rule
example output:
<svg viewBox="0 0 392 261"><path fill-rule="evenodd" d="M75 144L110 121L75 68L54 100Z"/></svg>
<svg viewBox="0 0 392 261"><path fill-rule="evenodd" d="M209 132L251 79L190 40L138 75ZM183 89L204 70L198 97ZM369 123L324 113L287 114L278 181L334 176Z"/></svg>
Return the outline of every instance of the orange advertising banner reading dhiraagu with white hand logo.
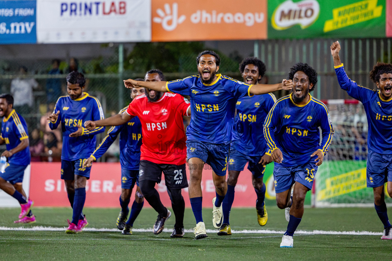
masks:
<svg viewBox="0 0 392 261"><path fill-rule="evenodd" d="M267 0L152 0L152 41L267 39Z"/></svg>

